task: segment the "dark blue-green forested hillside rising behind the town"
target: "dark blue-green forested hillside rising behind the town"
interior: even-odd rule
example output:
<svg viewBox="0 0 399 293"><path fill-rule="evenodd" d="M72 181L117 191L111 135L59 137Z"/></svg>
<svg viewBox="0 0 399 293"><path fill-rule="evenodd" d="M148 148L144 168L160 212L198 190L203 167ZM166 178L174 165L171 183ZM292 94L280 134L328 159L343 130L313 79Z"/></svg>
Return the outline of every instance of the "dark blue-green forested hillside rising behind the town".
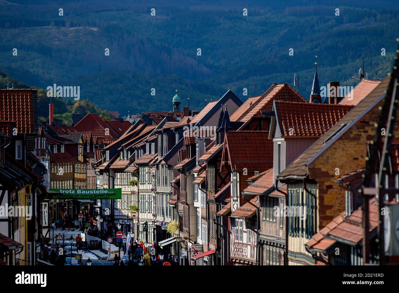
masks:
<svg viewBox="0 0 399 293"><path fill-rule="evenodd" d="M176 88L190 108L229 88L245 100L275 82L292 84L294 73L308 98L315 55L320 86L357 83L362 53L367 77L383 78L399 36L395 1L0 3L2 71L40 88L80 86L81 99L122 116L171 110Z"/></svg>

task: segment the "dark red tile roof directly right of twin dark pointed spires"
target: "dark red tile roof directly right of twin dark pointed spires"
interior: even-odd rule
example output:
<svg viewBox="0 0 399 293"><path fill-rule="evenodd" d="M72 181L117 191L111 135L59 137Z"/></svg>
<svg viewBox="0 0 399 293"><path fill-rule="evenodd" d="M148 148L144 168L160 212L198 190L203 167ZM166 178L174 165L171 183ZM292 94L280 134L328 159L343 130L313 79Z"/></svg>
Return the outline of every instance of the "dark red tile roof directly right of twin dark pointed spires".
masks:
<svg viewBox="0 0 399 293"><path fill-rule="evenodd" d="M273 167L273 140L265 131L227 132L222 161L229 161L234 171L267 170Z"/></svg>

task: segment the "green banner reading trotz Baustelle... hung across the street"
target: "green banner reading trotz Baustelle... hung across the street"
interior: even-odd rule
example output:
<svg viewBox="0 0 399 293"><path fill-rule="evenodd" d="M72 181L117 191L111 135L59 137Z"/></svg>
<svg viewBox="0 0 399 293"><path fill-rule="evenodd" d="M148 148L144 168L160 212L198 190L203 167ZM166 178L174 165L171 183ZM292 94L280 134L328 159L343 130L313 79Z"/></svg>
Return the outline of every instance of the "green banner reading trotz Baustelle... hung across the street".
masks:
<svg viewBox="0 0 399 293"><path fill-rule="evenodd" d="M54 189L60 194L52 194L52 199L122 199L121 188L109 189Z"/></svg>

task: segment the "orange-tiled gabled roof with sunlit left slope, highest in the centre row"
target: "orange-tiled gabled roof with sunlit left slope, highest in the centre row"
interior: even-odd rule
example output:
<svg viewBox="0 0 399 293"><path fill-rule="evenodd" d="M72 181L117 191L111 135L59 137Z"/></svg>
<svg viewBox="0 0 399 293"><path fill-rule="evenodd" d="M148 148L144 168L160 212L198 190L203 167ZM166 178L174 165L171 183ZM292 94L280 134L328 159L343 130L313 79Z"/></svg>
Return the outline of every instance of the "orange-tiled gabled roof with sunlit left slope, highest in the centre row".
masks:
<svg viewBox="0 0 399 293"><path fill-rule="evenodd" d="M249 98L230 116L230 121L247 122L253 116L261 114L262 110L272 110L274 100L308 103L298 92L287 84L274 83L261 96Z"/></svg>

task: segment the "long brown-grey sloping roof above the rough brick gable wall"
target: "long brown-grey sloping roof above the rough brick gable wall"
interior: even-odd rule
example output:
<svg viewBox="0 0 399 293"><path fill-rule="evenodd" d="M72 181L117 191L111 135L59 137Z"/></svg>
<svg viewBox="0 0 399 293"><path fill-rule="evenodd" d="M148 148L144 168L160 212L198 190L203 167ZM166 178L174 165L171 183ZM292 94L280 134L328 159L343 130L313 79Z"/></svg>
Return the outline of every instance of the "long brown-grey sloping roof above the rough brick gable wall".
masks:
<svg viewBox="0 0 399 293"><path fill-rule="evenodd" d="M387 89L391 78L386 77L370 94L359 102L348 114L346 114L338 123L330 128L314 144L308 147L298 158L296 158L284 171L278 176L284 177L306 177L308 165L330 147L338 138L340 138L348 129L359 122L365 114L373 109L385 97L384 91Z"/></svg>

